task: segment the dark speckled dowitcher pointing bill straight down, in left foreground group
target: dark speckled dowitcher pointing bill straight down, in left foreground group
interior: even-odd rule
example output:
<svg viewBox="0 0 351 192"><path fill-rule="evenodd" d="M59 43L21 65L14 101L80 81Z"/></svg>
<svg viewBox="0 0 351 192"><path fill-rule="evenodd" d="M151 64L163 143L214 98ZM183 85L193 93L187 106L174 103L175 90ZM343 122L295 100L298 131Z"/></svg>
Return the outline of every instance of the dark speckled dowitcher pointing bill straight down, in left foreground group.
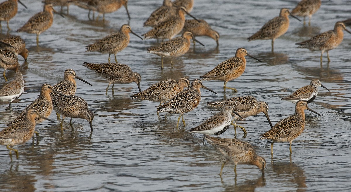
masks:
<svg viewBox="0 0 351 192"><path fill-rule="evenodd" d="M60 122L61 131L63 130L62 124L64 122L65 117L71 117L71 121L69 121L69 125L72 126L72 118L81 118L86 119L90 124L90 129L93 131L93 118L94 114L91 110L88 109L87 102L78 96L75 95L58 95L55 100L52 101L54 105L54 110L62 115L62 120Z"/></svg>

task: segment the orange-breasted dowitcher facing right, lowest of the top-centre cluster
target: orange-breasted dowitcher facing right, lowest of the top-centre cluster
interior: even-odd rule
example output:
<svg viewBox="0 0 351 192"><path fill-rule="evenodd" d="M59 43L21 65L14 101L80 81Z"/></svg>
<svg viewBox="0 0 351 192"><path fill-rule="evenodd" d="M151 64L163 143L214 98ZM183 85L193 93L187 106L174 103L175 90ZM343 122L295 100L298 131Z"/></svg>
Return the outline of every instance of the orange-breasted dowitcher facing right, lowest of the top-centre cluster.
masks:
<svg viewBox="0 0 351 192"><path fill-rule="evenodd" d="M162 42L158 47L150 47L147 49L147 53L156 54L161 56L161 69L163 69L163 57L178 57L188 52L190 48L190 39L200 43L193 37L191 32L184 32L180 37L176 37L166 42ZM200 43L202 46L204 44ZM172 61L171 61L172 65Z"/></svg>

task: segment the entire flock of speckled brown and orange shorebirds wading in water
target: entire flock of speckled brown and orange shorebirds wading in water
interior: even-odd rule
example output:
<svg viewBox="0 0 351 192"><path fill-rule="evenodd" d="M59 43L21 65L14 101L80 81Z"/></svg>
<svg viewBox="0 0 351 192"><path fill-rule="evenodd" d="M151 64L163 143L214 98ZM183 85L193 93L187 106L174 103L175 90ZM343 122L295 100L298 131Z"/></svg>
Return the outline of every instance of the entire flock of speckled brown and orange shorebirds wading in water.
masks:
<svg viewBox="0 0 351 192"><path fill-rule="evenodd" d="M7 28L10 29L9 20L17 13L17 2L20 2L20 0L8 0L0 4L0 27L1 21L7 21ZM128 18L130 19L127 0L45 0L44 3L43 12L35 14L23 27L17 30L18 32L36 33L37 44L39 44L39 34L52 25L53 12L55 12L53 6L61 6L61 12L62 6L67 6L68 13L69 4L77 5L89 10L89 19L91 11L93 11L93 19L95 19L95 12L98 12L99 15L103 14L102 19L105 19L105 13L114 12L121 6L124 6ZM163 58L177 57L185 54L191 46L191 39L194 43L197 42L203 45L194 38L195 36L206 35L211 37L216 41L218 46L219 33L213 30L206 21L198 20L189 13L193 8L193 4L193 0L176 0L174 2L171 2L171 0L164 0L163 6L156 9L144 23L144 26L153 27L147 33L141 35L144 36L144 38L135 34L129 25L122 25L119 32L108 35L86 46L87 52L108 53L108 63L84 62L83 64L88 69L100 74L109 82L106 88L106 95L111 84L113 91L113 85L115 83L135 82L138 85L139 93L131 97L139 100L160 102L159 106L157 106L157 114L159 114L159 112L180 114L177 122L178 127L180 118L185 126L183 115L198 106L201 100L200 88L207 89L217 94L203 85L204 80L224 81L224 91L226 91L226 89L237 91L235 88L227 87L227 82L238 78L244 73L246 66L245 56L249 56L261 62L256 57L247 53L247 50L244 48L238 48L234 57L221 62L211 71L201 75L200 77L203 78L202 80L194 79L190 82L187 77L180 77L178 80L168 78L153 84L143 91L140 89L140 74L133 72L127 65L117 62L116 53L127 47L130 41L130 33L138 36L142 40L153 38L164 41L164 39L168 39L168 41L161 42L157 47L148 48L148 53L161 56L161 69L164 67ZM22 5L26 7L24 4ZM265 23L265 25L257 33L250 36L248 40L271 39L273 52L274 40L283 35L289 27L289 16L294 18L296 18L296 16L303 16L304 25L305 17L308 16L310 25L311 16L319 9L320 5L320 0L302 0L291 12L287 8L282 8L279 16ZM190 15L193 20L185 20L185 14ZM60 15L63 16L62 14ZM96 18L97 20L99 19L99 15ZM323 53L327 52L328 54L329 50L336 48L342 42L344 36L343 30L351 33L346 29L345 22L346 21L337 22L333 30L321 33L312 37L310 40L296 44L301 48L320 50L322 53L320 60L322 62ZM182 33L182 35L174 37L179 33ZM19 54L27 60L28 50L25 48L24 40L19 36L12 36L0 40L0 47L0 67L4 68L3 75L5 80L7 81L5 76L6 69L16 72L14 80L6 84L0 90L0 100L9 102L9 107L11 107L11 102L19 98L24 92L24 81L21 72L19 72L20 66L17 55ZM115 63L110 63L111 54L114 54ZM330 60L329 54L328 60ZM62 116L60 121L61 130L65 117L71 117L69 124L72 129L72 118L83 118L90 123L91 131L93 130L93 113L88 109L88 105L83 98L74 95L77 89L75 78L90 84L80 78L73 69L65 70L64 80L54 86L43 84L39 97L29 104L18 117L0 132L0 144L6 145L6 148L10 150L10 157L11 151L14 151L18 159L18 151L13 149L12 146L27 142L33 137L34 133L37 134L37 138L39 137L38 132L34 129L35 124L41 123L44 119L47 119L53 109L56 111L58 119ZM225 162L221 167L220 174L226 162L234 163L235 167L237 164L256 165L262 173L264 173L266 161L263 157L255 153L252 145L238 139L216 138L210 135L219 136L221 133L225 132L230 125L233 125L235 129L237 127L241 128L245 136L247 131L243 126L236 124L237 120L263 112L266 115L271 129L261 134L261 139L271 139L273 141L271 144L272 155L273 143L289 142L291 155L292 141L303 132L305 127L304 110L310 110L320 116L320 114L307 106L308 103L316 98L319 86L329 91L329 89L321 84L320 80L312 79L310 85L306 85L296 90L291 95L282 98L283 100L296 103L295 113L282 119L274 126L268 116L269 107L266 102L257 101L253 96L239 96L219 102L208 102L208 105L220 109L220 112L208 118L199 126L190 129L190 131L204 134L204 139L217 148L225 157ZM188 89L184 90L185 87L188 87ZM236 173L236 168L234 168L234 171Z"/></svg>

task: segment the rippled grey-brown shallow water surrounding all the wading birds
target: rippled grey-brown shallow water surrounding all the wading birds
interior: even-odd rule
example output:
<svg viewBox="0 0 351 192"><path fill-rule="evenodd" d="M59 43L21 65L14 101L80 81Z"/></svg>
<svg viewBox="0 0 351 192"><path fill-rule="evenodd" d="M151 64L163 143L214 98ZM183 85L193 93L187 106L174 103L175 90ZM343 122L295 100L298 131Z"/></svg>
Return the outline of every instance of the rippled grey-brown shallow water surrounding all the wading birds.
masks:
<svg viewBox="0 0 351 192"><path fill-rule="evenodd" d="M119 62L141 73L141 89L165 78L188 76L198 78L220 62L235 55L239 47L263 62L247 57L245 73L227 85L236 87L237 93L223 92L223 82L205 81L204 85L218 92L202 89L198 107L184 115L186 126L176 128L178 115L156 114L158 103L132 100L137 85L115 84L114 95L105 95L106 80L82 66L83 61L107 62L107 54L86 53L85 46L128 23L124 8L106 14L105 22L89 21L87 10L69 7L69 15L54 15L51 28L39 36L16 33L34 13L42 10L40 1L22 0L28 6L18 6L18 14L10 21L11 31L6 34L2 22L1 36L21 35L29 49L28 64L19 58L24 74L25 93L12 104L1 103L0 126L5 127L20 114L39 94L41 84L55 84L62 80L63 72L73 68L77 75L92 83L91 87L77 80L77 96L84 98L94 112L93 132L84 119L73 119L74 130L64 123L45 121L36 126L41 140L16 146L20 157L10 162L8 150L0 148L1 191L350 191L350 49L351 35L345 32L342 44L330 51L331 62L319 52L297 49L294 43L333 28L335 22L350 18L351 1L322 0L320 10L313 15L311 27L290 19L288 32L275 42L271 53L270 40L247 42L266 21L278 16L280 8L293 8L296 0L230 1L195 0L192 15L204 19L220 34L217 48L208 37L197 37L206 46L198 44L183 56L165 59L160 70L160 57L146 52L156 40L141 41L131 35L128 47L117 54ZM150 28L143 22L161 4L161 0L130 0L130 25L139 35ZM60 8L56 7L59 11ZM64 7L64 12L66 8ZM4 25L5 24L5 25ZM4 27L5 26L5 27ZM326 55L326 54L325 54ZM1 70L2 71L2 70ZM2 73L2 72L1 72ZM8 71L7 77L13 78ZM309 106L322 114L319 117L306 111L305 131L292 145L274 145L271 158L270 141L259 140L259 135L270 126L263 114L246 118L239 124L248 134L237 130L236 138L251 143L257 153L267 161L265 176L256 166L238 165L235 179L234 165L224 167L224 158L210 144L202 144L203 136L189 133L217 110L206 105L208 101L224 97L252 95L269 104L269 115L275 124L294 112L294 104L281 97L319 78L331 92L320 88L316 100ZM3 78L0 87L5 85ZM51 119L55 119L52 113ZM233 138L232 126L221 137Z"/></svg>

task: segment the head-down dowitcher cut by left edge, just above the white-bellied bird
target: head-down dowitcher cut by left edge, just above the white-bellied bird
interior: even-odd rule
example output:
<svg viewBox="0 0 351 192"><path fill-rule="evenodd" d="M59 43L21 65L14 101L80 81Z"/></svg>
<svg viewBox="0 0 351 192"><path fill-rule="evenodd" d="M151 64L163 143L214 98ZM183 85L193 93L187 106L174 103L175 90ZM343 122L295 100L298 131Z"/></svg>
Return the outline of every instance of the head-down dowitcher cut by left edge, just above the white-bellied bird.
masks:
<svg viewBox="0 0 351 192"><path fill-rule="evenodd" d="M0 68L4 68L4 73L2 74L7 81L5 76L6 69L11 69L15 72L20 70L20 64L18 63L18 57L12 51L6 49L0 49Z"/></svg>

